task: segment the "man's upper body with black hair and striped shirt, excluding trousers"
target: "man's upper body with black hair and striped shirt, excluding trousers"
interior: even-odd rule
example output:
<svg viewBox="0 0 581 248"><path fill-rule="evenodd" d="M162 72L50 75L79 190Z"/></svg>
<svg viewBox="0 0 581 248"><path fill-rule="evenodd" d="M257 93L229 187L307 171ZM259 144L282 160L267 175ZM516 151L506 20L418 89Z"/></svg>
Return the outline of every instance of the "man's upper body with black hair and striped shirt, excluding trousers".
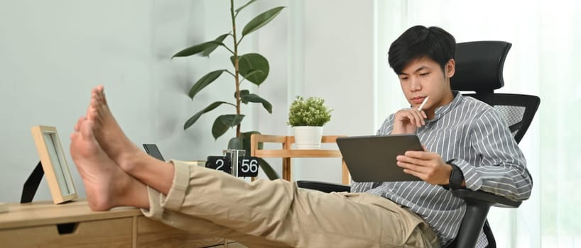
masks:
<svg viewBox="0 0 581 248"><path fill-rule="evenodd" d="M526 200L532 188L523 154L499 114L450 89L455 45L452 35L441 28L414 26L389 49L389 64L411 108L389 116L377 134L416 133L425 152L406 152L398 157L398 165L425 182L352 185L353 192L383 196L417 213L438 232L442 244L457 234L465 205L438 185L518 201ZM456 181L450 178L452 171ZM481 232L477 247L486 245Z"/></svg>

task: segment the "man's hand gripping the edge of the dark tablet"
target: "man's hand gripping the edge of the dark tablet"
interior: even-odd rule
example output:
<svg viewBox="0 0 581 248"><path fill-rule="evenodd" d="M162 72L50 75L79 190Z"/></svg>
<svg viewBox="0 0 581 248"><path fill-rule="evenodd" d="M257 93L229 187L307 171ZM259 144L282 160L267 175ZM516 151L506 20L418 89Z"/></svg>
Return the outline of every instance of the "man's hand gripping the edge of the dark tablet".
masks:
<svg viewBox="0 0 581 248"><path fill-rule="evenodd" d="M424 148L425 150L425 148ZM403 172L417 176L429 184L450 184L452 166L446 164L440 154L428 151L408 151L397 157Z"/></svg>

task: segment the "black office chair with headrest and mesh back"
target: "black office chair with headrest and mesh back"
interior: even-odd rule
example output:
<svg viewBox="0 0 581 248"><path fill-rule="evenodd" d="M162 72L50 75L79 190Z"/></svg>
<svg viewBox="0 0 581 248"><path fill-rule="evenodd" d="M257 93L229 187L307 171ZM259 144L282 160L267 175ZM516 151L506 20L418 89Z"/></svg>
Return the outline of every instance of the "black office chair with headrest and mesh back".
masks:
<svg viewBox="0 0 581 248"><path fill-rule="evenodd" d="M521 142L533 121L541 99L537 96L494 93L494 90L504 86L502 70L510 48L511 43L503 41L458 43L455 54L456 73L450 84L452 89L458 91L474 91L474 94L464 95L494 106L506 120L516 142ZM297 184L300 188L327 193L350 190L349 186L318 181L297 181ZM511 201L484 191L457 189L453 190L452 194L465 200L466 213L456 239L447 247L474 247L480 230L484 230L484 234L487 235L488 247L496 247L494 235L486 218L488 210L492 205L504 208L518 208L521 205L521 201Z"/></svg>

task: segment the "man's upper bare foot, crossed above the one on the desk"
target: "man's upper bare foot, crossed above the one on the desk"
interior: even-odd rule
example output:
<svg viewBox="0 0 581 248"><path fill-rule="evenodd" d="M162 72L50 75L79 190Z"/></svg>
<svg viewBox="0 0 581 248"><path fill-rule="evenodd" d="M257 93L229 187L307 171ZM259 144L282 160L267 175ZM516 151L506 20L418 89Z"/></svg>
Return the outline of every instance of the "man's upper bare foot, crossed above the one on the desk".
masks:
<svg viewBox="0 0 581 248"><path fill-rule="evenodd" d="M105 153L119 164L124 171L131 173L134 165L143 156L148 156L131 142L121 130L107 105L103 86L91 91L91 103L87 109L87 120L92 120L94 137Z"/></svg>

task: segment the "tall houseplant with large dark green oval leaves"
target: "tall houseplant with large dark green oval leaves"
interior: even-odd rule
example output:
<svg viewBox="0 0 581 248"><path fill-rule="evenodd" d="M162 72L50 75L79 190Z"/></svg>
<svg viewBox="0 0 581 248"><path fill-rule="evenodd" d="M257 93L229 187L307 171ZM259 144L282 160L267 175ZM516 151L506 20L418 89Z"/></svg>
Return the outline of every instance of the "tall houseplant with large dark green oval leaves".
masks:
<svg viewBox="0 0 581 248"><path fill-rule="evenodd" d="M180 52L173 55L173 57L188 57L191 55L202 55L204 57L210 57L210 54L214 52L218 47L223 47L228 50L232 55L229 60L232 62L232 69L218 69L205 74L205 76L198 79L195 84L191 87L188 92L188 96L193 98L202 91L206 86L212 84L213 81L218 79L224 72L229 74L234 79L234 102L227 101L215 101L210 103L210 105L198 111L192 117L184 123L184 130L190 128L199 118L205 113L208 113L219 106L232 106L235 112L232 114L219 115L212 125L212 135L215 139L227 133L230 128L236 127L236 136L229 140L229 149L244 149L246 154L250 152L250 135L254 133L259 133L256 131L241 132L241 123L244 120L244 114L240 111L241 103L261 103L268 113L272 113L272 105L264 98L261 98L257 94L252 94L249 89L242 89L242 82L249 81L251 84L260 86L268 77L268 60L266 57L260 55L259 53L246 53L244 55L239 54L238 47L242 40L249 34L253 33L259 28L262 28L267 23L273 20L278 13L280 13L284 7L276 7L259 14L258 16L252 18L244 28L242 28L241 36L237 33L237 16L250 4L254 3L256 0L250 0L246 4L235 9L234 0L230 0L230 18L232 20L232 29L228 33L219 35L215 40L210 40L205 43L200 43L193 45L191 47L185 48ZM232 45L227 45L224 41L229 38ZM173 59L172 57L172 59ZM268 166L268 164L263 160L260 160L261 168L264 170L269 179L276 179L278 175L276 172Z"/></svg>

